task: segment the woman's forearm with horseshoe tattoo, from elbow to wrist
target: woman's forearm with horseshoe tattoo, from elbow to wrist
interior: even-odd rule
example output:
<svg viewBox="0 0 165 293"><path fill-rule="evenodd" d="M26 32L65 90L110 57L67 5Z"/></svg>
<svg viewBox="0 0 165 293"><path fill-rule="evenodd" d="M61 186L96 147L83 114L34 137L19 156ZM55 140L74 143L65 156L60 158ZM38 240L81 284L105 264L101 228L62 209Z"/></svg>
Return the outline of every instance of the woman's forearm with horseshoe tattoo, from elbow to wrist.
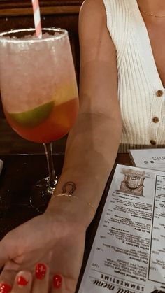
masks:
<svg viewBox="0 0 165 293"><path fill-rule="evenodd" d="M120 117L79 115L67 140L64 168L55 189L55 195L71 193L76 198L55 196L49 207L71 212L86 226L91 222L115 162L120 133Z"/></svg>

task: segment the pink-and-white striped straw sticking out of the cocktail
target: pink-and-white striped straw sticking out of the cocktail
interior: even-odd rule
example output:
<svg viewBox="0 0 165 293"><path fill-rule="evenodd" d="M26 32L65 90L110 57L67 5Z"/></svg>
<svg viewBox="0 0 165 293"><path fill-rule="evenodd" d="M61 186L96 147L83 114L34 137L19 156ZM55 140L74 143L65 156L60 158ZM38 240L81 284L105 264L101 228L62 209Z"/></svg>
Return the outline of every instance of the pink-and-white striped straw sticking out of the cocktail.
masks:
<svg viewBox="0 0 165 293"><path fill-rule="evenodd" d="M37 38L42 38L40 6L38 0L32 0L32 5L34 10L34 26L36 29L36 36Z"/></svg>

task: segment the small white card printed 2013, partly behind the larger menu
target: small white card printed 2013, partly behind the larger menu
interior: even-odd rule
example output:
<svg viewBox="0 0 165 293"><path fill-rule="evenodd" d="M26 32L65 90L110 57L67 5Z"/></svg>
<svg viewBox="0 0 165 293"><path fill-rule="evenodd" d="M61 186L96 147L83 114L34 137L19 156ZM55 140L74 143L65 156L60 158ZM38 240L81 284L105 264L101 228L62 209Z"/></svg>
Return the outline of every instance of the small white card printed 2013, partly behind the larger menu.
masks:
<svg viewBox="0 0 165 293"><path fill-rule="evenodd" d="M165 171L165 149L129 150L131 161L135 166Z"/></svg>

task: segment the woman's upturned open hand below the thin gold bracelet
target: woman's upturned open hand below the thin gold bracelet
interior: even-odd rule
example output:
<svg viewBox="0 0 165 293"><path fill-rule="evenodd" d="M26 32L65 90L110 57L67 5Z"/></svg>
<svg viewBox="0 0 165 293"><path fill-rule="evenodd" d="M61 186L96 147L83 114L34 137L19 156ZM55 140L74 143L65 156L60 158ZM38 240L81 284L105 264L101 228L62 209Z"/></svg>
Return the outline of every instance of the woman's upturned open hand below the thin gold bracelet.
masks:
<svg viewBox="0 0 165 293"><path fill-rule="evenodd" d="M57 209L57 213L55 210L52 213L50 209L45 214L34 217L34 219L10 231L2 239L0 242L0 265L4 265L4 267L0 276L1 284L13 286L16 274L22 270L31 272L36 278L36 266L44 263L50 270L49 273L47 270L49 287L53 288L53 283L55 285L55 276L61 276L62 284L59 286L58 292L75 292L82 264L86 229L82 222L80 224L73 217L74 213L65 214L59 210ZM46 293L47 290L38 290L38 285L35 291L30 289L31 276L29 275L29 285L25 286L27 291L24 293ZM39 284L41 285L41 283ZM44 286L41 285L41 287L43 290ZM20 292L15 291L14 288L12 293ZM55 288L52 289L52 292L54 292L53 290ZM0 292L8 291L0 290Z"/></svg>

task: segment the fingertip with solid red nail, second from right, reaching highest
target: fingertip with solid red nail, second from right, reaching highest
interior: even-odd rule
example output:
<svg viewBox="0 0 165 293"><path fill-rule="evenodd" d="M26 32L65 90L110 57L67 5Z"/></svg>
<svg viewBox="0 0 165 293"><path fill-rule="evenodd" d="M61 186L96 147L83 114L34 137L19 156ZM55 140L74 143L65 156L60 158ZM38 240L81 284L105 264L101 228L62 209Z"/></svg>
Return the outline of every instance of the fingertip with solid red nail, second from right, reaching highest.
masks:
<svg viewBox="0 0 165 293"><path fill-rule="evenodd" d="M32 293L47 293L49 291L49 267L44 263L36 264Z"/></svg>

